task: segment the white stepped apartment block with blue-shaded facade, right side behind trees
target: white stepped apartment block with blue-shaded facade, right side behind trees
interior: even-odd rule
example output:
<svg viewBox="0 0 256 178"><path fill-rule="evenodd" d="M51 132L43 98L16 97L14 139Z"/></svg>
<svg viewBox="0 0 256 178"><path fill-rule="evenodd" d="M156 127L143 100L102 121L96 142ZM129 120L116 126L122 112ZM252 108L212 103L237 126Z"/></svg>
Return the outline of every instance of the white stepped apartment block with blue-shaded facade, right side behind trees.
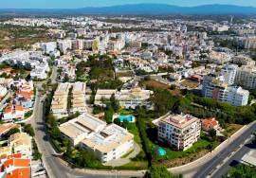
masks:
<svg viewBox="0 0 256 178"><path fill-rule="evenodd" d="M202 94L206 98L214 98L228 102L233 106L245 106L248 102L249 92L241 87L229 86L223 76L210 74L204 77Z"/></svg>

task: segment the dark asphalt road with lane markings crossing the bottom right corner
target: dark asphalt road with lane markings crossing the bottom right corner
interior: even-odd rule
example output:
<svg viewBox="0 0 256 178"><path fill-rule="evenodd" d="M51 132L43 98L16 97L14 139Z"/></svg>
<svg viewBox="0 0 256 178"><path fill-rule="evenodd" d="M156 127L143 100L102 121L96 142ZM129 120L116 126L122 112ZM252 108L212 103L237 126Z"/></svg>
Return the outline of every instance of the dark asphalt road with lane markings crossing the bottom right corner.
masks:
<svg viewBox="0 0 256 178"><path fill-rule="evenodd" d="M256 123L254 123L251 127L249 127L247 129L247 131L244 134L241 134L235 141L231 142L229 144L229 147L223 151L220 151L217 156L215 156L214 159L211 159L210 161L208 161L206 164L204 164L201 168L197 169L197 173L193 176L194 178L205 178L207 177L213 169L217 168L217 166L227 157L229 157L229 155L231 154L232 151L235 151L237 148L239 148L239 146L241 144L244 143L245 140L247 140L247 138L249 138L249 136L254 133L256 131ZM238 157L240 157L243 153L245 153L247 151L247 148L243 148L241 151L238 151L236 154ZM235 154L235 155L236 155ZM242 155L243 156L243 155ZM231 161L231 159L230 159ZM225 166L223 166L224 168L220 170L219 174L221 174L221 171L223 172L227 172L227 170L229 170L227 168L225 168ZM218 176L218 173L216 174L216 176L219 178L221 176Z"/></svg>

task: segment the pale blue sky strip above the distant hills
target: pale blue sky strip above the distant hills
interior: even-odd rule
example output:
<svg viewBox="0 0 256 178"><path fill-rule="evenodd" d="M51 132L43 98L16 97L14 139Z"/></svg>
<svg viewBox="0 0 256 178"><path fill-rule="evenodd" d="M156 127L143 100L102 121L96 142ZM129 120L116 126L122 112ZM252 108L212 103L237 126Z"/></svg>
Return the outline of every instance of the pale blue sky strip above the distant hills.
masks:
<svg viewBox="0 0 256 178"><path fill-rule="evenodd" d="M139 3L161 3L186 7L206 4L256 7L256 0L0 0L0 9L77 9Z"/></svg>

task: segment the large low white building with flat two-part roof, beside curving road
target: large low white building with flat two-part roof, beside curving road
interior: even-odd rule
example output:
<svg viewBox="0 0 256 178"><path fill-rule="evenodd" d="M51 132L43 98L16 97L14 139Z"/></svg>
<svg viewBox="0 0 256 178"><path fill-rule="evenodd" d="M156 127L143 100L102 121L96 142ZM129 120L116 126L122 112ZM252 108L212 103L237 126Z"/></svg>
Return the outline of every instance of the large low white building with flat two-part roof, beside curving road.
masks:
<svg viewBox="0 0 256 178"><path fill-rule="evenodd" d="M60 130L73 146L93 151L101 162L119 159L134 147L133 134L87 114L62 124Z"/></svg>

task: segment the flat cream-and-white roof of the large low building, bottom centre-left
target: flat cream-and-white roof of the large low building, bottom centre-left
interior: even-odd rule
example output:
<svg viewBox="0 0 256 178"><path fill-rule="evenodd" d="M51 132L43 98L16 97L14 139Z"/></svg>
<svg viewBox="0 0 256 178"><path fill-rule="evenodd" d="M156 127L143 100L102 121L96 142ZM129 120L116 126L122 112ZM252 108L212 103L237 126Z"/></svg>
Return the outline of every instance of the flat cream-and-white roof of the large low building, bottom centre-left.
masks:
<svg viewBox="0 0 256 178"><path fill-rule="evenodd" d="M107 125L99 118L86 114L62 124L60 130L68 137L79 138L82 144L101 152L112 151L134 138L133 134L118 125Z"/></svg>

